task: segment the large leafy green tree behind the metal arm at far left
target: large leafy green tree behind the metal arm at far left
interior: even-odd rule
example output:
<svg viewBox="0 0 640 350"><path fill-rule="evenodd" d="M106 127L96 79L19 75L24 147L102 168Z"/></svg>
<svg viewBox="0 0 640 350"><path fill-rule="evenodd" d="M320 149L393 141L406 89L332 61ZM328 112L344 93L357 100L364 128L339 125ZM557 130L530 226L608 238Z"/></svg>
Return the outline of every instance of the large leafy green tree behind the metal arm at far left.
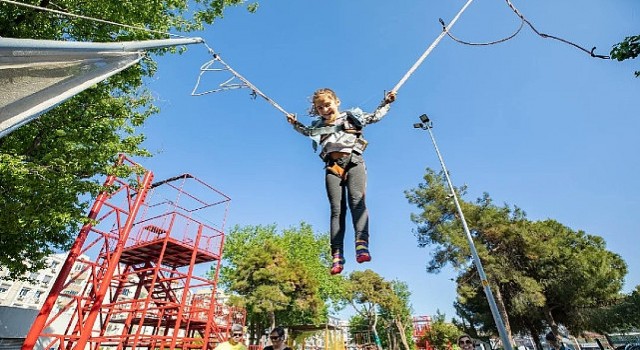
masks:
<svg viewBox="0 0 640 350"><path fill-rule="evenodd" d="M202 29L243 0L41 0L37 6L159 32ZM195 6L194 6L195 5ZM257 4L248 5L254 11ZM197 8L195 11L190 11ZM165 38L156 32L102 24L3 3L0 36L113 42ZM163 54L172 49L156 50ZM0 139L0 267L10 277L44 267L68 249L99 179L113 173L118 153L148 156L137 128L158 112L144 88L151 56Z"/></svg>

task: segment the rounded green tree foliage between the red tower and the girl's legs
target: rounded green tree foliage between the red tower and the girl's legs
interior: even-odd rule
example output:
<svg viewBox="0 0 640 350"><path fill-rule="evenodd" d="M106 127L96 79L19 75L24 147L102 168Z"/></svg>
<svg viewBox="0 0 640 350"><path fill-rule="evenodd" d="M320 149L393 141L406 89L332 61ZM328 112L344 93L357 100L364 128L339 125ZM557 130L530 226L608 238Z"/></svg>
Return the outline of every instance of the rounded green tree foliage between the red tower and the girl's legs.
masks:
<svg viewBox="0 0 640 350"><path fill-rule="evenodd" d="M327 247L328 236L304 223L282 233L274 225L237 226L226 236L220 282L240 297L257 334L278 324L325 322L343 290L343 280L327 272Z"/></svg>

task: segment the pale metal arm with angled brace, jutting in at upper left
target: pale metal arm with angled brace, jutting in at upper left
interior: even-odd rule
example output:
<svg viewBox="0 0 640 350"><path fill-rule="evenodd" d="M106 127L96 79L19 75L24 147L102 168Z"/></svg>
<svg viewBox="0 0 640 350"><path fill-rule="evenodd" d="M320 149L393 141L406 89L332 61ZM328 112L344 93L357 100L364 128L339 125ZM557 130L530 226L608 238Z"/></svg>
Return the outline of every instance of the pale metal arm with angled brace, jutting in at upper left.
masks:
<svg viewBox="0 0 640 350"><path fill-rule="evenodd" d="M144 50L201 38L117 43L0 38L0 138L137 63Z"/></svg>

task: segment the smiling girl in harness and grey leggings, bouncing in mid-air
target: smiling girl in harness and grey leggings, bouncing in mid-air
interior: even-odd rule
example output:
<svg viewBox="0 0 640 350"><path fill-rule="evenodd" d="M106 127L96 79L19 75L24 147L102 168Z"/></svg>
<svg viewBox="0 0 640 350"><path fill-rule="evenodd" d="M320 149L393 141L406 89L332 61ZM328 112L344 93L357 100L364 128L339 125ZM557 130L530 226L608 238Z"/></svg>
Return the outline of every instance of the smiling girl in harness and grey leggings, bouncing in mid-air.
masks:
<svg viewBox="0 0 640 350"><path fill-rule="evenodd" d="M371 261L369 214L365 204L367 172L362 158L367 141L362 137L362 129L367 124L380 121L395 98L395 92L389 92L373 113L364 113L359 108L340 112L340 99L333 90L325 88L313 94L310 114L320 118L311 126L298 122L295 115L287 115L296 131L311 137L314 149L318 145L322 148L320 158L326 164L325 187L331 207L332 275L344 269L347 203L355 231L356 261Z"/></svg>

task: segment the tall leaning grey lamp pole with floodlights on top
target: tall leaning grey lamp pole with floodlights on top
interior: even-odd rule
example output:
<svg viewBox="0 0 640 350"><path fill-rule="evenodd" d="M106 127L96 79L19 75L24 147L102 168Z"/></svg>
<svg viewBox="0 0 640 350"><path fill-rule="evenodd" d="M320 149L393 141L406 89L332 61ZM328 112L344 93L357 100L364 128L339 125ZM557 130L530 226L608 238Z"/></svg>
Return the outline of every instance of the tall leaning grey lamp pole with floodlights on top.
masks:
<svg viewBox="0 0 640 350"><path fill-rule="evenodd" d="M476 250L476 246L473 243L473 238L471 237L471 233L469 232L469 227L467 226L467 220L464 218L464 214L462 213L462 208L460 207L460 203L458 202L458 196L456 195L456 191L454 190L453 184L451 183L451 179L449 178L449 172L447 171L447 167L444 165L444 160L442 159L442 155L440 154L440 150L438 149L438 145L436 144L436 139L435 137L433 137L433 132L431 132L431 128L433 128L433 123L429 120L429 117L427 117L426 114L423 114L422 116L420 116L420 120L422 121L422 123L414 124L414 127L416 128L419 127L429 132L429 136L431 137L431 142L433 142L433 147L436 149L436 153L438 154L438 159L440 160L442 171L444 171L444 176L447 179L447 184L449 184L449 190L451 190L453 201L456 204L458 215L460 215L460 221L462 222L464 233L467 236L467 241L469 242L469 248L471 248L471 255L473 256L473 262L476 265L476 269L478 269L478 274L480 275L480 282L482 282L484 293L487 295L487 300L489 301L489 308L491 308L493 321L496 323L496 326L498 328L498 333L500 334L500 339L502 339L502 344L504 346L504 349L513 350L513 347L511 346L511 342L509 341L509 337L507 336L507 329L504 326L504 322L502 321L502 316L500 315L500 311L498 310L496 301L493 298L493 293L491 292L491 288L489 287L489 280L487 279L487 275L484 273L484 268L482 267L482 262L480 261L480 257L478 256L478 251Z"/></svg>

